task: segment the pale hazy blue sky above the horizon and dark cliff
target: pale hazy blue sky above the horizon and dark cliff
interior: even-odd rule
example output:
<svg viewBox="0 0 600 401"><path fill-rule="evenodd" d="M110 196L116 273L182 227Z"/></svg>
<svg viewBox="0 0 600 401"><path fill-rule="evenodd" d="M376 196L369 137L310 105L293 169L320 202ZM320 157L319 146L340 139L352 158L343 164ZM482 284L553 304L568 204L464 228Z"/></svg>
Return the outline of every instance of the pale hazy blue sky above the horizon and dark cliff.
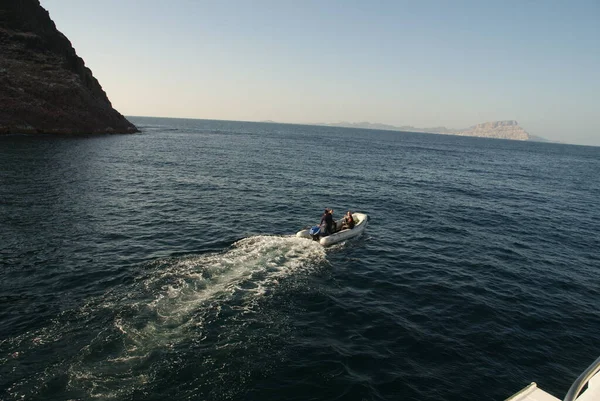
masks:
<svg viewBox="0 0 600 401"><path fill-rule="evenodd" d="M600 1L41 0L125 115L600 145Z"/></svg>

